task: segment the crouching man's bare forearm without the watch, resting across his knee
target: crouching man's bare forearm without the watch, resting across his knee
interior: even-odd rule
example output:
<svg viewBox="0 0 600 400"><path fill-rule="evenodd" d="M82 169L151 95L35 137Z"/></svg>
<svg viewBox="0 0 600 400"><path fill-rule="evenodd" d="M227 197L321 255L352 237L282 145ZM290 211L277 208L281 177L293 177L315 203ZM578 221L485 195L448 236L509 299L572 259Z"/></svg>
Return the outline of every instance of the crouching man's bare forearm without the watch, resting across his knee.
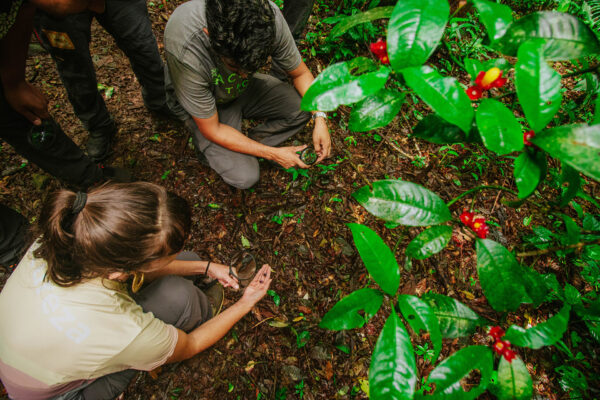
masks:
<svg viewBox="0 0 600 400"><path fill-rule="evenodd" d="M297 151L306 146L271 147L250 139L237 129L219 122L219 115L214 113L208 118L194 118L200 133L211 142L237 153L250 154L279 163L284 168L299 166L308 168Z"/></svg>

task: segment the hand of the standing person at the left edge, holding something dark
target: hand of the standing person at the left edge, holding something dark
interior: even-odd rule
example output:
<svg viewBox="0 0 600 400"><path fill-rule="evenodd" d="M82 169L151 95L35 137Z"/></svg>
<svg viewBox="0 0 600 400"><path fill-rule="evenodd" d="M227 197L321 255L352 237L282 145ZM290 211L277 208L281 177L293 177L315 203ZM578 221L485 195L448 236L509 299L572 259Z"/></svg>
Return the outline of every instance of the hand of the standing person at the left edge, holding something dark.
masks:
<svg viewBox="0 0 600 400"><path fill-rule="evenodd" d="M34 125L40 125L42 119L50 117L48 100L38 88L26 81L5 87L4 95L8 104Z"/></svg>

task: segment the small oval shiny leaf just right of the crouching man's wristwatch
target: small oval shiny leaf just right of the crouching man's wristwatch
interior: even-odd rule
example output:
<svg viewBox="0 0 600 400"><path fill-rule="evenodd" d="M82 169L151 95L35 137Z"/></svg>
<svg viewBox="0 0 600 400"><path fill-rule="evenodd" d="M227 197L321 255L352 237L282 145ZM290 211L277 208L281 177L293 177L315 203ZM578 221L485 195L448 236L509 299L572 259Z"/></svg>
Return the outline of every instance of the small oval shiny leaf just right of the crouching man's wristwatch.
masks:
<svg viewBox="0 0 600 400"><path fill-rule="evenodd" d="M352 109L348 128L354 132L366 132L389 124L404 104L406 95L396 90L381 89L362 99Z"/></svg>

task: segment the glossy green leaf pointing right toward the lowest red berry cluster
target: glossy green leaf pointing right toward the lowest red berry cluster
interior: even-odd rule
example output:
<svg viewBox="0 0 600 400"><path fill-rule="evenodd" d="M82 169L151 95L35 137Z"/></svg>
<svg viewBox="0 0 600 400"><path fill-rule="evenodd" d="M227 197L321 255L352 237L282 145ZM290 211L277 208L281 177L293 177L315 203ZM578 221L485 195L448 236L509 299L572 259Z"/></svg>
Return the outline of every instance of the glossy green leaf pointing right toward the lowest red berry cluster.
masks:
<svg viewBox="0 0 600 400"><path fill-rule="evenodd" d="M443 338L469 336L478 326L485 323L473 310L452 297L429 292L424 294L421 300L433 310Z"/></svg>

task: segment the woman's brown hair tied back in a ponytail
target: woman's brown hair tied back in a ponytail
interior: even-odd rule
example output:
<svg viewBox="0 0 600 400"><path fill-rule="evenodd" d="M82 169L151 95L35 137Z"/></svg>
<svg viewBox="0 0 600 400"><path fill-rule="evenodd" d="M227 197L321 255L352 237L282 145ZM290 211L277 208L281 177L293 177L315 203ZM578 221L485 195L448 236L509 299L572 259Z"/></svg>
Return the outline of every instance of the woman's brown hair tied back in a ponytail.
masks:
<svg viewBox="0 0 600 400"><path fill-rule="evenodd" d="M35 256L59 286L111 272L135 271L183 248L190 229L187 202L159 185L107 183L90 190L73 213L76 193L52 193L42 207Z"/></svg>

